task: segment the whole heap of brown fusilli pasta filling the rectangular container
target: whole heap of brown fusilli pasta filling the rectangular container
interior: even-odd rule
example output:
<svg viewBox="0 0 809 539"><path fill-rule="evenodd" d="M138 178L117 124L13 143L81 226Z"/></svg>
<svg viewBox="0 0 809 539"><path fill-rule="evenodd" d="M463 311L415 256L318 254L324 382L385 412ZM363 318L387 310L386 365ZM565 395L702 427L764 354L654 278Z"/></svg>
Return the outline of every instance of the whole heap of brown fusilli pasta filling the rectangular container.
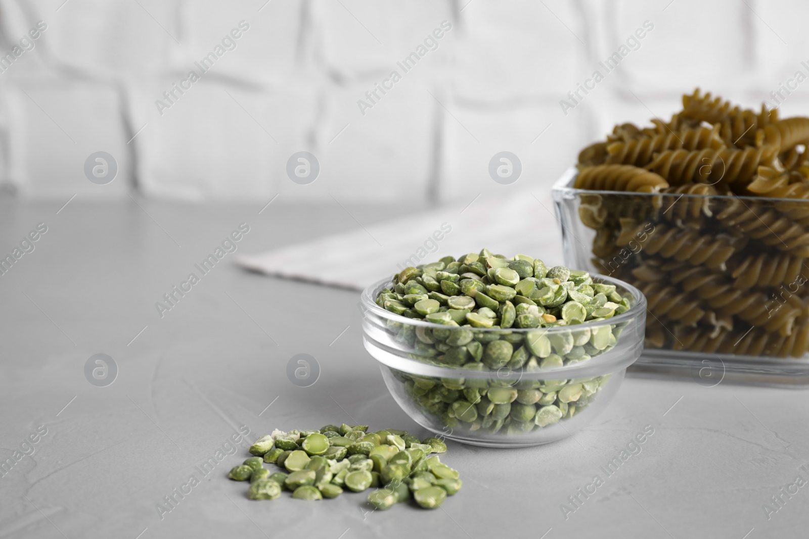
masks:
<svg viewBox="0 0 809 539"><path fill-rule="evenodd" d="M807 146L809 118L697 89L582 150L575 187L614 191L579 194L592 264L646 294L647 347L809 352Z"/></svg>

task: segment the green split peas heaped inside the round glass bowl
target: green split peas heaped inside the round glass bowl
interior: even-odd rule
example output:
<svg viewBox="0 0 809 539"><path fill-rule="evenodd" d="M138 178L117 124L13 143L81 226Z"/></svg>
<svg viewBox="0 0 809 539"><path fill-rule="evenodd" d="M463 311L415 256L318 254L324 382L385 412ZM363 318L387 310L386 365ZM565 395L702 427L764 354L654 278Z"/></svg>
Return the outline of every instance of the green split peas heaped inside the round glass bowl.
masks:
<svg viewBox="0 0 809 539"><path fill-rule="evenodd" d="M487 250L407 267L376 298L383 309L441 328L388 320L388 329L430 364L477 371L536 372L590 360L617 343L630 299L589 273ZM568 331L545 328L566 326ZM512 331L522 329L528 331ZM486 331L500 330L500 331ZM580 413L608 381L436 378L393 370L422 411L452 428L519 435ZM515 381L515 378L518 378ZM505 427L505 429L504 429Z"/></svg>

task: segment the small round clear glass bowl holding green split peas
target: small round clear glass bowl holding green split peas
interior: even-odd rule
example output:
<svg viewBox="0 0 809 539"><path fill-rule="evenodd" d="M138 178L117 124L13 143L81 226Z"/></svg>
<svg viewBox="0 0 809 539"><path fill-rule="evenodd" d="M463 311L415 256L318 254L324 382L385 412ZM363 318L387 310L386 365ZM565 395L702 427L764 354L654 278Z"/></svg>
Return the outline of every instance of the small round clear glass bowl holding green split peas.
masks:
<svg viewBox="0 0 809 539"><path fill-rule="evenodd" d="M377 305L391 285L362 293L363 342L393 398L417 423L464 444L526 447L591 423L643 350L646 298L606 276L629 310L532 329L447 326Z"/></svg>

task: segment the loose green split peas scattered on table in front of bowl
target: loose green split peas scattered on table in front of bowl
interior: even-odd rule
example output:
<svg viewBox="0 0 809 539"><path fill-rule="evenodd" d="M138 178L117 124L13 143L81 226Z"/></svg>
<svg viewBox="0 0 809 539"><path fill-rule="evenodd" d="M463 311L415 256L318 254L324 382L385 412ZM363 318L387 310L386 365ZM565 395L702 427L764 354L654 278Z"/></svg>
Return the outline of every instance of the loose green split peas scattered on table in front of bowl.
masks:
<svg viewBox="0 0 809 539"><path fill-rule="evenodd" d="M337 498L344 487L368 495L377 509L413 499L419 507L440 506L447 495L460 491L458 471L438 455L447 444L430 436L419 440L406 431L368 432L367 425L326 425L319 431L273 431L250 446L255 455L235 466L228 478L249 481L249 499L277 499L282 490L295 499ZM264 462L285 472L272 473Z"/></svg>

